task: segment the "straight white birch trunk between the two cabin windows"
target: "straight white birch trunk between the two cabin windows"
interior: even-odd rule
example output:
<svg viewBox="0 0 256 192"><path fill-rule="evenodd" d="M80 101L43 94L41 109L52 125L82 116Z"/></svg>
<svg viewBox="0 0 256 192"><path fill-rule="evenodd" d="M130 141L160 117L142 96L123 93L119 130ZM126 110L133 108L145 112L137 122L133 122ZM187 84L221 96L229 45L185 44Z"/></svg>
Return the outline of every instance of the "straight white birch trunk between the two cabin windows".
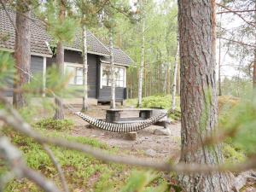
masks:
<svg viewBox="0 0 256 192"><path fill-rule="evenodd" d="M83 85L84 85L84 96L83 96L83 108L82 112L86 112L88 110L88 89L87 89L87 73L88 73L88 65L87 65L87 37L86 37L86 26L83 24Z"/></svg>

